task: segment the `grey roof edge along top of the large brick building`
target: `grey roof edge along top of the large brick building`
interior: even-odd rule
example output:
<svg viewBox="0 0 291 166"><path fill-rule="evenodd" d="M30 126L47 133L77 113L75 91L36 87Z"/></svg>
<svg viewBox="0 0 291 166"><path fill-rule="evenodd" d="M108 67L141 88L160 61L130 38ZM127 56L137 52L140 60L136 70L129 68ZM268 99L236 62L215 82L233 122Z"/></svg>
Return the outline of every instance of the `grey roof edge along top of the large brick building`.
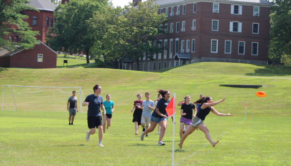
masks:
<svg viewBox="0 0 291 166"><path fill-rule="evenodd" d="M160 5L158 9L164 8L164 7L172 7L178 4L185 4L185 3L187 4L187 3L196 3L196 2L221 2L221 3L229 3L229 4L239 3L239 4L249 4L249 5L255 5L255 6L264 6L264 7L271 7L274 5L274 4L266 4L266 3L243 2L243 1L232 1L232 0L184 0L184 1Z"/></svg>

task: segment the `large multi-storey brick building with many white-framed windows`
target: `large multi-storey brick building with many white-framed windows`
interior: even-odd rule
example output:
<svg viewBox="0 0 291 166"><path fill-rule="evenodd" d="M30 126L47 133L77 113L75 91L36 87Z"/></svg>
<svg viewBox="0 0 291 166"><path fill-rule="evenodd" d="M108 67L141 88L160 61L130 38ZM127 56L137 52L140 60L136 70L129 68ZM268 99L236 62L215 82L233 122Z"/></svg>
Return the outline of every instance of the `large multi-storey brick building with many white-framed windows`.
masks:
<svg viewBox="0 0 291 166"><path fill-rule="evenodd" d="M137 2L140 0L133 0ZM165 13L169 35L159 35L168 50L154 61L144 57L140 71L196 62L268 63L270 7L266 0L155 0ZM124 64L126 65L126 64ZM134 63L130 69L136 70Z"/></svg>

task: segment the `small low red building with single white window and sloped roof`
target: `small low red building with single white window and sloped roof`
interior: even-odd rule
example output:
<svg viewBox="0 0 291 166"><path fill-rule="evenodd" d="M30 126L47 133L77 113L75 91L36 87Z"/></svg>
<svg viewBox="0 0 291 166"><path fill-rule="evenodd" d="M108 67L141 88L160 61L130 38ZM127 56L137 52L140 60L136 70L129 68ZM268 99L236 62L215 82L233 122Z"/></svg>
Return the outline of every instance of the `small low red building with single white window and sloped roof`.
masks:
<svg viewBox="0 0 291 166"><path fill-rule="evenodd" d="M56 52L43 42L32 49L0 50L0 67L56 68Z"/></svg>

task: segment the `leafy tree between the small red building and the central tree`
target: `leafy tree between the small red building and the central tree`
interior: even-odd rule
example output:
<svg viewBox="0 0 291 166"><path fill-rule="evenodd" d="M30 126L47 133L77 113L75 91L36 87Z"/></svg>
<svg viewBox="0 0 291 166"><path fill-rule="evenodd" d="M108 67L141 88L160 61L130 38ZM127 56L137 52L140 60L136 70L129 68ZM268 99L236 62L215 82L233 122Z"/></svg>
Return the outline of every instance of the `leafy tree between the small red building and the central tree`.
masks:
<svg viewBox="0 0 291 166"><path fill-rule="evenodd" d="M90 50L97 42L89 28L90 18L108 5L107 0L70 0L54 10L56 22L47 34L47 43L55 51L85 53L89 62Z"/></svg>

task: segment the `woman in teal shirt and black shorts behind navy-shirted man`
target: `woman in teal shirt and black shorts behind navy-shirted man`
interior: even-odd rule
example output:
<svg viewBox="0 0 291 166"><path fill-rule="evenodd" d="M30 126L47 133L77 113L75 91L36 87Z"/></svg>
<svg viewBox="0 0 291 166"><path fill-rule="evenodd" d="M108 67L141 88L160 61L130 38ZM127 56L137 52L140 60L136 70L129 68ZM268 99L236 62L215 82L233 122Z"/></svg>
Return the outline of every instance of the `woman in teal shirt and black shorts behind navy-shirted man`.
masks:
<svg viewBox="0 0 291 166"><path fill-rule="evenodd" d="M110 100L110 94L106 95L106 101L103 101L104 108L106 110L106 115L103 112L103 133L105 133L105 125L107 121L107 129L111 125L112 113L114 110L114 103Z"/></svg>

